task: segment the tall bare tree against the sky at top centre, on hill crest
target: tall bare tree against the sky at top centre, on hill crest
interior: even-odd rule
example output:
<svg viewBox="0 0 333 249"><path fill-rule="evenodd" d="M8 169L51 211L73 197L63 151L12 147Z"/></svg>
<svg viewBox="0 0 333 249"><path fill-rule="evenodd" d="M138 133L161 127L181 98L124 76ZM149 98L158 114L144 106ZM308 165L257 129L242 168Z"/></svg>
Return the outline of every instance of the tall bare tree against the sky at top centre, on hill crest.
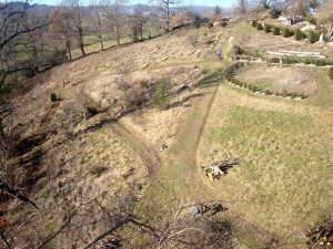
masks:
<svg viewBox="0 0 333 249"><path fill-rule="evenodd" d="M172 30L172 15L182 3L181 0L150 0L151 3L155 4L158 15L164 21L165 30Z"/></svg>

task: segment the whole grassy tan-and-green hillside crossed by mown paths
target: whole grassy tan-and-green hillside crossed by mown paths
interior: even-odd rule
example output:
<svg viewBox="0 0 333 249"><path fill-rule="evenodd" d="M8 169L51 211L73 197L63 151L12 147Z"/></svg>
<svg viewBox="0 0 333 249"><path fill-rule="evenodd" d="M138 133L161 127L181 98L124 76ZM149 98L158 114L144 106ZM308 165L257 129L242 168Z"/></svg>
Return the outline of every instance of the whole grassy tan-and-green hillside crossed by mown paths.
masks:
<svg viewBox="0 0 333 249"><path fill-rule="evenodd" d="M174 203L184 208L181 220L192 222L193 200L214 201L228 208L216 218L228 220L239 248L304 248L304 235L332 207L333 87L329 70L275 66L270 71L273 66L258 64L239 72L242 81L254 79L252 83L262 87L273 87L279 80L297 81L301 91L311 92L302 101L251 93L224 82L223 72L232 55L226 52L231 37L234 44L261 53L331 51L254 29L250 33L249 29L250 24L186 28L113 48L52 69L39 77L43 84L36 83L14 98L13 126L20 137L47 137L20 155L42 154L38 170L31 174L36 180L31 196L43 208L42 234L60 226L65 205L80 204L82 191L84 198L98 196L101 206L111 207L134 187L139 193L135 214L143 214L142 219L155 214L157 225L172 224L170 215L179 207ZM215 55L219 48L223 49L222 60ZM269 77L261 77L268 72ZM124 76L128 92L119 87ZM68 85L62 85L64 79ZM169 83L170 106L155 108L151 100L161 79ZM303 84L306 80L311 82ZM59 97L56 103L50 103L50 93ZM143 97L138 102L139 96ZM87 120L85 105L98 110ZM231 156L239 157L240 164L220 180L205 178L201 165ZM20 205L10 205L14 220ZM100 210L91 211L99 221L104 219L99 216L104 209ZM26 210L22 217L30 214L33 211ZM78 245L107 227L91 221ZM54 245L70 241L71 236L62 236ZM143 237L140 242L147 239Z"/></svg>

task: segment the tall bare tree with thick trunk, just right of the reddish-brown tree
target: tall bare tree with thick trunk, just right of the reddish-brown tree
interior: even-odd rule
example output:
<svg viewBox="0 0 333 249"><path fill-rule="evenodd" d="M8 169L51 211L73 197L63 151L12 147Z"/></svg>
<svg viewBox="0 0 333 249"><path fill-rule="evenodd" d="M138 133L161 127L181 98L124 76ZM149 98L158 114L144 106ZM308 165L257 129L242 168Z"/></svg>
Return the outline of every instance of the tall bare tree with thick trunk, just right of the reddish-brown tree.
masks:
<svg viewBox="0 0 333 249"><path fill-rule="evenodd" d="M68 24L72 28L72 33L78 41L79 48L81 50L82 56L85 55L84 52L84 17L85 12L83 10L83 3L81 0L63 0L61 3L63 10L63 17L67 19Z"/></svg>

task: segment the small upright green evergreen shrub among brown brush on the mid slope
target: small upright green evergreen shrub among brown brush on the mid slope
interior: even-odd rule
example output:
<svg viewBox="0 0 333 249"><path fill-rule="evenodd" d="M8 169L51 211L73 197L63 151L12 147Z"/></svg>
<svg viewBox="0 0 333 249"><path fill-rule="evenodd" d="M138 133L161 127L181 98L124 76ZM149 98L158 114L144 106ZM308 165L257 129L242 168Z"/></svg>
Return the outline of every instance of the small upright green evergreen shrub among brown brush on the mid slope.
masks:
<svg viewBox="0 0 333 249"><path fill-rule="evenodd" d="M154 94L152 96L152 104L158 108L167 108L170 105L170 81L169 79L161 77L155 82Z"/></svg>

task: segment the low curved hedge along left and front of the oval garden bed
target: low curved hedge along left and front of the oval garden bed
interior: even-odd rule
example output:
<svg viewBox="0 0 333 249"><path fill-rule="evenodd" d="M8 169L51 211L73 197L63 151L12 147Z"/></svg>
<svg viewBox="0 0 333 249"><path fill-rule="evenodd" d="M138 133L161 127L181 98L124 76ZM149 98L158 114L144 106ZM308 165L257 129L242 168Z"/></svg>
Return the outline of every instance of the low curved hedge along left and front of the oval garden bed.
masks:
<svg viewBox="0 0 333 249"><path fill-rule="evenodd" d="M283 90L283 92L272 92L270 90L264 90L254 85L251 85L249 83L242 82L238 79L234 77L235 71L240 68L242 68L244 65L244 63L242 62L238 62L234 63L232 65L230 65L229 68L225 69L224 73L225 73L225 79L231 82L234 85L239 85L242 89L246 89L250 90L254 93L261 93L261 94L265 94L265 95L274 95L274 96L283 96L283 97L292 97L292 98L306 98L306 95L304 95L304 93L289 93L286 90Z"/></svg>

